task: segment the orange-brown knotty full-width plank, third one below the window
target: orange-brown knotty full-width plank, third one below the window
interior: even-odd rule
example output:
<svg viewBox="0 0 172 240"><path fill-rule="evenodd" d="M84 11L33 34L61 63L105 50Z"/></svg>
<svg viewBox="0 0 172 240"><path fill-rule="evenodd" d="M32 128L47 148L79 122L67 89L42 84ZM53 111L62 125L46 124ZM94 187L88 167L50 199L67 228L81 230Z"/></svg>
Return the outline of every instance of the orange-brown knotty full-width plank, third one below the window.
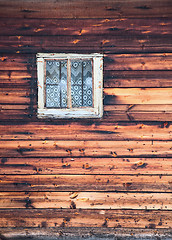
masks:
<svg viewBox="0 0 172 240"><path fill-rule="evenodd" d="M165 174L172 175L171 158L1 158L0 174Z"/></svg>

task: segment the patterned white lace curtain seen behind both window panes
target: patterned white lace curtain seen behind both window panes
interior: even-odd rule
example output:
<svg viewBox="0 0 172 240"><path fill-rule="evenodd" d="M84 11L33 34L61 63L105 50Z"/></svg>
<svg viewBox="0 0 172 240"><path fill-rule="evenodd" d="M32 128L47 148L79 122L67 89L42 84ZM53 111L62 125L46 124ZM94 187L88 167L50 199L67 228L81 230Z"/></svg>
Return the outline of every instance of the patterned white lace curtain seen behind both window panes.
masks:
<svg viewBox="0 0 172 240"><path fill-rule="evenodd" d="M67 60L46 61L46 107L67 108L69 92L72 108L92 107L92 60L71 60L70 91L67 75Z"/></svg>

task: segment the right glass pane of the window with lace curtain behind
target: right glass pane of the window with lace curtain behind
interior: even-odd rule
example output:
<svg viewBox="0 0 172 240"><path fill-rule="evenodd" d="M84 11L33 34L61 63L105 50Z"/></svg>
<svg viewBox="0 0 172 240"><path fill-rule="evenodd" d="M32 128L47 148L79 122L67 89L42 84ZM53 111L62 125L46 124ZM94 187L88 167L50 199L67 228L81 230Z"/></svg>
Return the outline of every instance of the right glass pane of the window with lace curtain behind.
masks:
<svg viewBox="0 0 172 240"><path fill-rule="evenodd" d="M92 107L92 61L71 61L71 98L72 107Z"/></svg>

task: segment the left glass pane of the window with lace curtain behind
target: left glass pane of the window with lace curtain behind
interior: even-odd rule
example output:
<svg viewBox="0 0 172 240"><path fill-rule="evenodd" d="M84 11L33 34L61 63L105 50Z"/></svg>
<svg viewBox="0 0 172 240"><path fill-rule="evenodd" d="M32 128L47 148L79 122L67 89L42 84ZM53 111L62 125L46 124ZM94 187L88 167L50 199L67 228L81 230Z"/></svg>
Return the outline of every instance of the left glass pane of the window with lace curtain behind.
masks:
<svg viewBox="0 0 172 240"><path fill-rule="evenodd" d="M46 107L67 108L67 60L46 61Z"/></svg>

